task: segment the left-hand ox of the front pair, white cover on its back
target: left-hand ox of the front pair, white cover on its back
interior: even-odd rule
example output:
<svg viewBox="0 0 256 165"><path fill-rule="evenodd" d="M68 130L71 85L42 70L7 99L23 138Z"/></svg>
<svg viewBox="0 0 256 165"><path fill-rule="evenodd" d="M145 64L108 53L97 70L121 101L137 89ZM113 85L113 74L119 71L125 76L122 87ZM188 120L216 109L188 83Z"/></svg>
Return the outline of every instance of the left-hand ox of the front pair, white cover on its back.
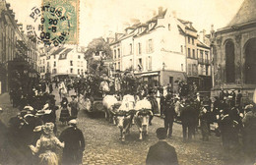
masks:
<svg viewBox="0 0 256 165"><path fill-rule="evenodd" d="M123 96L121 106L115 113L117 120L117 127L120 129L120 139L125 141L126 134L130 133L130 128L132 126L132 120L134 114L131 110L134 110L135 99L133 95L127 94Z"/></svg>

